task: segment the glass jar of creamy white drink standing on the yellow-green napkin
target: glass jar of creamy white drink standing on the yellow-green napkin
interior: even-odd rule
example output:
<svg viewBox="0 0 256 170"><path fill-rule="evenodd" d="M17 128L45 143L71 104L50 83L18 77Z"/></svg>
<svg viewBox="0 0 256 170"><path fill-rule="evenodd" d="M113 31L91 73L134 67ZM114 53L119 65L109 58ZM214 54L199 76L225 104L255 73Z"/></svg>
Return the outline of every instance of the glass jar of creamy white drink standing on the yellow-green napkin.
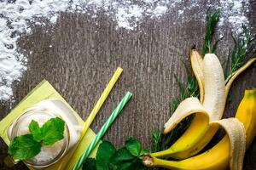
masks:
<svg viewBox="0 0 256 170"><path fill-rule="evenodd" d="M58 99L47 99L32 105L10 125L8 135L12 140L16 136L29 133L28 126L32 120L37 121L42 127L44 122L54 117L60 117L65 122L64 139L52 145L42 145L41 152L37 156L25 161L27 165L40 169L59 161L79 142L82 127L73 111Z"/></svg>

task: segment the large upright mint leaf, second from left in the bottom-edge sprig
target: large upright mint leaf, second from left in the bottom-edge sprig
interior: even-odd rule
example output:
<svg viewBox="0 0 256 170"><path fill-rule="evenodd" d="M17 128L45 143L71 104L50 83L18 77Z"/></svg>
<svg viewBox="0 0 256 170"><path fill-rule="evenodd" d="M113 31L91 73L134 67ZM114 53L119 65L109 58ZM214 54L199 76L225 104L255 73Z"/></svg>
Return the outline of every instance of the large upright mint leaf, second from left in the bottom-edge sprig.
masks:
<svg viewBox="0 0 256 170"><path fill-rule="evenodd" d="M96 155L96 169L108 170L108 161L115 151L113 144L106 140L102 141Z"/></svg>

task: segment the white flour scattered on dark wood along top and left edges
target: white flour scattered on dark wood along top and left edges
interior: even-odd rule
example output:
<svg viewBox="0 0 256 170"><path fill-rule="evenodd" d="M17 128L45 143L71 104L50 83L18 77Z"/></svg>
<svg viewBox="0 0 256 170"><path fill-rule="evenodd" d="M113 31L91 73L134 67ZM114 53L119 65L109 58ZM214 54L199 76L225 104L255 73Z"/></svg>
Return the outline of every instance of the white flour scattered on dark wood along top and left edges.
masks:
<svg viewBox="0 0 256 170"><path fill-rule="evenodd" d="M241 24L248 25L248 0L220 0L201 3L199 0L8 0L0 1L0 100L7 100L13 94L12 83L26 71L26 56L18 53L16 42L20 34L31 32L29 23L45 26L35 18L44 17L55 23L60 12L90 14L97 17L104 11L117 23L117 28L135 30L144 17L160 18L163 14L177 14L177 21L191 20L195 15L204 21L207 8L217 8L222 12L219 27L230 26L233 31L241 31ZM200 9L201 8L201 9ZM197 12L196 12L197 11ZM189 14L188 14L189 13ZM173 24L177 23L174 22ZM49 48L52 48L49 45ZM30 52L29 54L32 54Z"/></svg>

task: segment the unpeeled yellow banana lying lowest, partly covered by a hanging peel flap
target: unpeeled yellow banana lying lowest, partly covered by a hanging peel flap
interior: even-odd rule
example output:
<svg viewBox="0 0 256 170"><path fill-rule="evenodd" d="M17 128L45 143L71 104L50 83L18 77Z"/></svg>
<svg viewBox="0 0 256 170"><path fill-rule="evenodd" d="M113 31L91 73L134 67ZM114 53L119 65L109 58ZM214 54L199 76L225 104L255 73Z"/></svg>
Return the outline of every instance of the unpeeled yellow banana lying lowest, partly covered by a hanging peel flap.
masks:
<svg viewBox="0 0 256 170"><path fill-rule="evenodd" d="M256 89L247 90L236 111L236 118L243 123L246 130L246 148L253 142L256 135ZM222 170L229 168L230 139L226 134L218 144L201 155L183 161L166 161L146 155L143 163L148 167L166 167L183 170Z"/></svg>

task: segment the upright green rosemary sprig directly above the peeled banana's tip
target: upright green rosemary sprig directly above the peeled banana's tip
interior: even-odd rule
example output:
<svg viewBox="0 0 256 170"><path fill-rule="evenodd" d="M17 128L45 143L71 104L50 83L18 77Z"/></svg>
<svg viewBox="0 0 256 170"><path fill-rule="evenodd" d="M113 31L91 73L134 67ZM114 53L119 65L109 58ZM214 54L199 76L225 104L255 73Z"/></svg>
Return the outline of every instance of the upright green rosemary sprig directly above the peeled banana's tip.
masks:
<svg viewBox="0 0 256 170"><path fill-rule="evenodd" d="M212 39L215 32L215 27L218 24L220 13L219 12L207 12L207 18L206 18L206 35L205 35L205 42L203 44L202 48L202 54L207 53L214 53L218 42L223 38L219 38L213 45L212 45Z"/></svg>

